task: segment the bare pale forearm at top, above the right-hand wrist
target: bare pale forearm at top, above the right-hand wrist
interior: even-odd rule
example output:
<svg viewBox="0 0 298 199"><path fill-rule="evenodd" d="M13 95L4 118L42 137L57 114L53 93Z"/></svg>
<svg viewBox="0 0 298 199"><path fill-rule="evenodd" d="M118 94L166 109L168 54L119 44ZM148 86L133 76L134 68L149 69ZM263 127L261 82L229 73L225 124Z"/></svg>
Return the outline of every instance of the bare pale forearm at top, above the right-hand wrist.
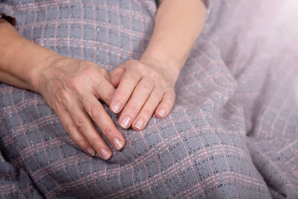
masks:
<svg viewBox="0 0 298 199"><path fill-rule="evenodd" d="M201 0L163 0L143 58L157 58L178 76L207 18Z"/></svg>

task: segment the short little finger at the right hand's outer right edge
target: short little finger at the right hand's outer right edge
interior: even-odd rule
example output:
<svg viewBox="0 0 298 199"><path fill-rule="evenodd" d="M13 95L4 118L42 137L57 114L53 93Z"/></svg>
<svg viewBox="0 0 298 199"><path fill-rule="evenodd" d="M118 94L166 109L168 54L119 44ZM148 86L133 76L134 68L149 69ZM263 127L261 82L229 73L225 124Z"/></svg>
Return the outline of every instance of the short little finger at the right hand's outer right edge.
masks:
<svg viewBox="0 0 298 199"><path fill-rule="evenodd" d="M156 108L156 111L155 111L156 117L162 119L162 118L165 118L170 113L175 103L175 96L176 94L174 89L170 89L164 93L160 104Z"/></svg>

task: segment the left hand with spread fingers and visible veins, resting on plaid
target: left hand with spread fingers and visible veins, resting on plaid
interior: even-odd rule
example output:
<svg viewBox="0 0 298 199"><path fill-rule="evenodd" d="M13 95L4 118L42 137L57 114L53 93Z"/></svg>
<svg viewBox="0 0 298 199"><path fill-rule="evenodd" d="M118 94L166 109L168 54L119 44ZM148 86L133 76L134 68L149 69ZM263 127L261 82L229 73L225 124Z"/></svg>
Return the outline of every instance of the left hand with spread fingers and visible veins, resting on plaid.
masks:
<svg viewBox="0 0 298 199"><path fill-rule="evenodd" d="M91 119L115 149L124 147L124 137L98 100L109 104L115 92L104 69L92 62L58 57L38 74L38 92L83 151L92 156L97 152L105 160L112 155Z"/></svg>

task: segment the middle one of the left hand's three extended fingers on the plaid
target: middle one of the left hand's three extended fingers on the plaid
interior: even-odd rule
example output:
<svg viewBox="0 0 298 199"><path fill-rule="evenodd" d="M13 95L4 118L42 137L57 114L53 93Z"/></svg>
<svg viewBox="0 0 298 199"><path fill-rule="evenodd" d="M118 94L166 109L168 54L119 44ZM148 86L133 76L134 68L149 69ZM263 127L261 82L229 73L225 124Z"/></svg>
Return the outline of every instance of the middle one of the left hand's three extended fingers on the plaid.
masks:
<svg viewBox="0 0 298 199"><path fill-rule="evenodd" d="M111 149L104 141L104 139L99 135L95 129L91 119L83 110L79 102L68 111L73 118L74 124L84 135L89 144L93 147L96 153L104 160L109 159L112 156Z"/></svg>

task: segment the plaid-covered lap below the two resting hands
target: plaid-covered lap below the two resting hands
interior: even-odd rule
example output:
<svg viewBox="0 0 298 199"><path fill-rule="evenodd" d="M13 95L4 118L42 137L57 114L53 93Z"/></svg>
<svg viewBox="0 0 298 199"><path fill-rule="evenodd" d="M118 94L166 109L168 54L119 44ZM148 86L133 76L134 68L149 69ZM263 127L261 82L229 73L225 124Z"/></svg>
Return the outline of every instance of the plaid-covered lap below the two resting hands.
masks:
<svg viewBox="0 0 298 199"><path fill-rule="evenodd" d="M235 80L212 45L198 45L170 115L151 118L141 132L119 128L127 144L109 161L79 150L41 96L2 84L5 155L47 198L269 197L246 147L241 108L221 116Z"/></svg>

